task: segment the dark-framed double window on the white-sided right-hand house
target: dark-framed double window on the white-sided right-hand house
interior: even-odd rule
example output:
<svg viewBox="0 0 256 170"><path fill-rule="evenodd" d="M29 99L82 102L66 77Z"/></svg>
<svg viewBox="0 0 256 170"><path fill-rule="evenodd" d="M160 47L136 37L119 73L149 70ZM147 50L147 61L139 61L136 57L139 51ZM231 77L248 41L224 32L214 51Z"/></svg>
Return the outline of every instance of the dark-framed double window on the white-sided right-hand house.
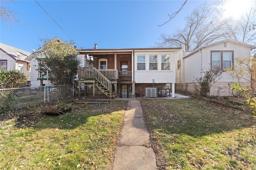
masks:
<svg viewBox="0 0 256 170"><path fill-rule="evenodd" d="M234 51L211 51L212 69L229 69L234 64Z"/></svg>

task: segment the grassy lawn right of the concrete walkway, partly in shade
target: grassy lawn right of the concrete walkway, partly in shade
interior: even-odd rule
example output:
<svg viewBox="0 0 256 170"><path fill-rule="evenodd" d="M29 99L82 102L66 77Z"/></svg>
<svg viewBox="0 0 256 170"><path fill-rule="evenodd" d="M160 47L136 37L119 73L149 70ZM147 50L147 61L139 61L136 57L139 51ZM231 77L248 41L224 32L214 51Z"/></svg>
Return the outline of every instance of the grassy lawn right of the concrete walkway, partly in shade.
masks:
<svg viewBox="0 0 256 170"><path fill-rule="evenodd" d="M196 99L141 99L162 169L256 169L256 119Z"/></svg>

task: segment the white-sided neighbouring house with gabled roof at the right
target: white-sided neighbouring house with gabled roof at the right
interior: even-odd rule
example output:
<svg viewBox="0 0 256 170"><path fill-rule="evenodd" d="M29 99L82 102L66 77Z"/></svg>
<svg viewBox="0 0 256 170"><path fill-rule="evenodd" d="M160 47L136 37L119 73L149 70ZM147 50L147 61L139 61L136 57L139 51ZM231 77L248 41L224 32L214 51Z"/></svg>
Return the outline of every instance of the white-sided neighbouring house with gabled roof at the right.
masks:
<svg viewBox="0 0 256 170"><path fill-rule="evenodd" d="M238 57L249 59L254 48L253 45L235 40L222 40L195 51L180 51L176 57L176 89L193 92L196 79L203 77L204 71L232 68L232 65L236 65ZM224 71L214 85L226 89L222 91L223 94L232 95L232 83L234 79Z"/></svg>

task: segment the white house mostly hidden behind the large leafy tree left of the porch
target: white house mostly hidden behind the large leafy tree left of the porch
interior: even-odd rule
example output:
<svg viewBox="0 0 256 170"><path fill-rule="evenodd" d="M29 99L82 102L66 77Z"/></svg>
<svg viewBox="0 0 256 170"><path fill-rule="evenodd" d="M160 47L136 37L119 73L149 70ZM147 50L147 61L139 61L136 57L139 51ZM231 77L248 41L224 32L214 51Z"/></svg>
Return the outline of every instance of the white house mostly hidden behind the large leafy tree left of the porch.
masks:
<svg viewBox="0 0 256 170"><path fill-rule="evenodd" d="M51 41L59 41L59 42L64 42L63 40L61 40L58 37L55 37L54 39L52 39ZM75 47L76 48L76 47ZM34 51L31 55L29 55L26 60L31 61L31 87L41 87L44 86L46 84L50 85L50 81L49 81L49 77L51 77L51 73L48 72L48 82L47 82L47 73L44 73L42 71L40 71L40 68L38 68L38 62L40 62L40 59L43 59L45 56L44 54L41 52L43 49L43 47L40 47L38 50ZM84 59L85 56L84 55L80 55L81 59ZM81 66L84 65L90 65L92 61L90 61L90 58L87 56L87 60L82 62Z"/></svg>

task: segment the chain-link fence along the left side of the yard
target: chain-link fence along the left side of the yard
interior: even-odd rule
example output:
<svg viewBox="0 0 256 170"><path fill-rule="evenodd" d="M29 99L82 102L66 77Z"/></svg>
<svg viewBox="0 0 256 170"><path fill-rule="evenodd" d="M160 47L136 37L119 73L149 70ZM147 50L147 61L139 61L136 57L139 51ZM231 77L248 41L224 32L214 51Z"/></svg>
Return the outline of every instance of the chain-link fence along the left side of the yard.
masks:
<svg viewBox="0 0 256 170"><path fill-rule="evenodd" d="M0 113L74 97L74 85L0 89Z"/></svg>

